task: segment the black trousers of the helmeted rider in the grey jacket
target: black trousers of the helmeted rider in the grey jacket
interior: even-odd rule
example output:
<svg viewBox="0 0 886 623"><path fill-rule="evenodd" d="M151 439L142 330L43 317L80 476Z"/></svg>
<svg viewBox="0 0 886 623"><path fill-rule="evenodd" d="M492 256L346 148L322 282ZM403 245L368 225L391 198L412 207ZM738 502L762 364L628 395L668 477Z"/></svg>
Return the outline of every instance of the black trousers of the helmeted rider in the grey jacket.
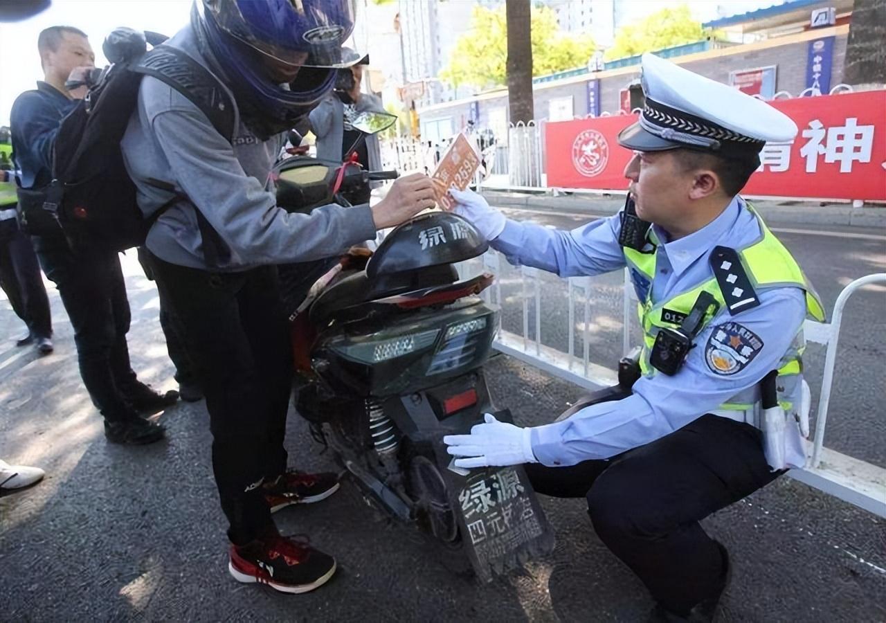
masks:
<svg viewBox="0 0 886 623"><path fill-rule="evenodd" d="M228 535L244 544L273 526L257 484L286 469L292 356L276 269L216 274L156 256L152 266L206 395Z"/></svg>

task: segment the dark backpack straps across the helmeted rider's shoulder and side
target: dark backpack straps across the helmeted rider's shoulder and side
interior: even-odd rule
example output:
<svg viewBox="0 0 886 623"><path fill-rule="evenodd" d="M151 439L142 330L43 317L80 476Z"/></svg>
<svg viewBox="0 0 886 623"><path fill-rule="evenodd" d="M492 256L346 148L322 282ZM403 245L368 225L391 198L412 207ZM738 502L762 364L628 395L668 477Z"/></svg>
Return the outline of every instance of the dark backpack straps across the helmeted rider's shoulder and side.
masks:
<svg viewBox="0 0 886 623"><path fill-rule="evenodd" d="M138 74L150 75L187 97L206 115L215 130L231 143L234 136L234 103L228 91L221 86L221 82L210 74L206 67L190 58L186 52L168 45L158 45L145 54L132 70ZM152 215L153 219L156 221L172 206L175 199L178 198L170 199L160 206L160 209ZM230 250L200 209L193 202L191 205L197 213L197 225L200 238L204 242L203 255L206 263L218 267L222 261L230 259Z"/></svg>

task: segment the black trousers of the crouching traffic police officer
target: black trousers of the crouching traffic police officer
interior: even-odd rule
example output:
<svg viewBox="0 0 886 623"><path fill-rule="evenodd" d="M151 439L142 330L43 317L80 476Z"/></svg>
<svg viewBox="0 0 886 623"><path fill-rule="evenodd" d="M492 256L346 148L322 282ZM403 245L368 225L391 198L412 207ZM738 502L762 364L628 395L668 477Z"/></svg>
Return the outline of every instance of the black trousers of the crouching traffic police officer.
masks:
<svg viewBox="0 0 886 623"><path fill-rule="evenodd" d="M711 596L725 571L699 520L779 475L756 428L713 415L608 461L525 468L541 494L587 497L601 541L677 613Z"/></svg>

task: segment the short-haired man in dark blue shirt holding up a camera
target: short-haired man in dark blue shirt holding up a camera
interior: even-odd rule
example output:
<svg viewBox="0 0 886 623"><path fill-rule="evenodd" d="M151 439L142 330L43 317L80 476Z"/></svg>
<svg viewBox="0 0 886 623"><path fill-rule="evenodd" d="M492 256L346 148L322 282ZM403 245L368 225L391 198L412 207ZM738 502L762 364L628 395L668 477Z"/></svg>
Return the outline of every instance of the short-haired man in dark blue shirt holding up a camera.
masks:
<svg viewBox="0 0 886 623"><path fill-rule="evenodd" d="M38 47L47 82L37 82L37 90L19 95L11 113L13 159L20 184L27 189L51 182L58 127L77 105L63 85L68 74L92 64L86 36L73 28L48 28ZM159 411L175 403L178 393L154 392L136 378L129 363L130 312L119 255L97 248L74 251L61 230L34 236L33 241L43 272L58 287L74 327L83 384L105 417L105 436L131 444L162 439L162 426L140 412Z"/></svg>

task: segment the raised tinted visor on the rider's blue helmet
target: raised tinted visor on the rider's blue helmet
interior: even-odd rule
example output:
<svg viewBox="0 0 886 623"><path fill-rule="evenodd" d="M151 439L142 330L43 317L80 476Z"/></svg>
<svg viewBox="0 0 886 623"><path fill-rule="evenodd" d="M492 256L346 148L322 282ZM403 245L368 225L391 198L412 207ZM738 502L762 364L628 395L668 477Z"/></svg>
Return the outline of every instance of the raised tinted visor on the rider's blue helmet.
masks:
<svg viewBox="0 0 886 623"><path fill-rule="evenodd" d="M348 0L203 0L198 10L222 32L284 65L348 67L360 60L342 49L354 30Z"/></svg>

